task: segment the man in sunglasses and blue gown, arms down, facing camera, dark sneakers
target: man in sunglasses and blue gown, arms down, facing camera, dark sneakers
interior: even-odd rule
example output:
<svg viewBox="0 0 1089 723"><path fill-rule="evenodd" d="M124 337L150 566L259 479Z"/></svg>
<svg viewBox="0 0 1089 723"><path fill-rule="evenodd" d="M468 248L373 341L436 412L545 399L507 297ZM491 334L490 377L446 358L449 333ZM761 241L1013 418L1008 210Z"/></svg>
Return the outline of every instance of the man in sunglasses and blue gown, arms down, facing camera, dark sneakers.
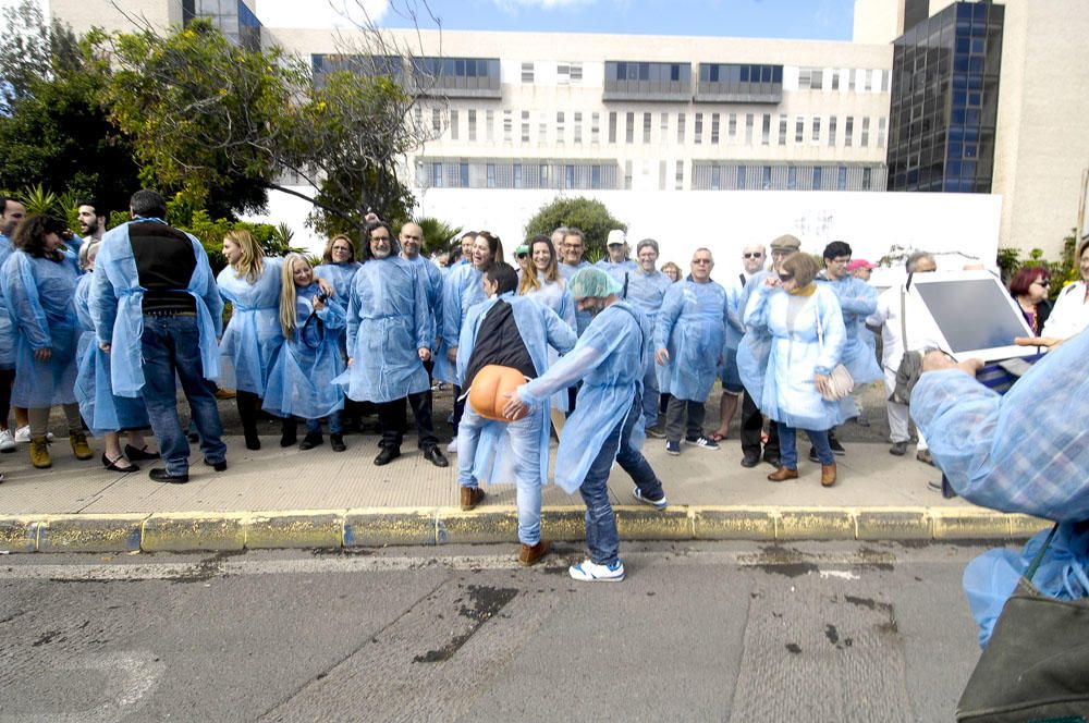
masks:
<svg viewBox="0 0 1089 723"><path fill-rule="evenodd" d="M665 292L654 326L661 391L672 395L665 408L665 451L673 455L681 454L682 433L685 444L719 449L703 433L705 404L722 363L726 318L726 291L711 281L713 268L710 249L697 248L692 274Z"/></svg>

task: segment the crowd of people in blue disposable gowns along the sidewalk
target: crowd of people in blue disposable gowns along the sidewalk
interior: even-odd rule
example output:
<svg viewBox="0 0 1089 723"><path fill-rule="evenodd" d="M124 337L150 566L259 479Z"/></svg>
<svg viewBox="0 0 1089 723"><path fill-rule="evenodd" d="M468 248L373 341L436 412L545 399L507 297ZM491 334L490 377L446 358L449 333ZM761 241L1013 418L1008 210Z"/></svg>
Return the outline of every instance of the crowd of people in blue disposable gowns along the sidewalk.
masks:
<svg viewBox="0 0 1089 723"><path fill-rule="evenodd" d="M585 259L578 229L560 228L518 245L507 265L502 241L487 231L463 234L432 260L421 254L418 224L394 233L371 217L360 238L331 238L316 266L298 254L266 256L249 233L231 231L227 266L213 275L200 243L163 221L162 196L137 192L130 211L130 222L107 231L100 210L84 204L77 235L3 200L0 451L25 441L32 464L49 467L49 415L60 406L77 458L94 456L89 431L102 440L108 469L132 473L161 459L152 480L187 482L180 382L203 461L218 471L228 464L221 389L235 394L249 450L260 449L258 419L271 414L282 420L281 446L323 444L325 424L331 449L342 452L345 417L370 405L381 433L374 463L386 465L402 454L411 406L423 456L446 467L431 390L449 384L454 439L446 454L457 455L461 505L480 503L482 481L515 482L524 564L548 551L540 490L554 430L555 480L579 490L587 505L590 557L572 567L576 579L624 576L605 490L613 462L635 480L638 502L666 505L639 453L644 433L664 440L671 455L714 451L739 408L743 466L770 464L772 482L797 478L804 430L821 485L832 486L836 456L846 452L836 427L869 424L842 389L843 375L856 389L883 381L891 396L905 351L933 345L905 284L879 294L868 282L873 265L854 259L842 241L828 244L822 265L790 234L768 247L746 245L741 272L719 283L710 249L696 249L684 273L674 264L659 268L652 238L636 243L631 258L620 230L597 264ZM1033 333L1068 338L1089 324L1089 243L1078 260L1081 281L1053 308L1044 267L1012 280ZM908 273L935 269L929 254L907 259ZM516 370L524 383L506 388L487 412L467 400L479 380L492 379L492 367ZM705 409L717 381L720 422L708 432ZM888 415L889 451L904 455L907 407L891 401ZM148 429L158 451L144 437ZM933 464L921 432L916 456Z"/></svg>

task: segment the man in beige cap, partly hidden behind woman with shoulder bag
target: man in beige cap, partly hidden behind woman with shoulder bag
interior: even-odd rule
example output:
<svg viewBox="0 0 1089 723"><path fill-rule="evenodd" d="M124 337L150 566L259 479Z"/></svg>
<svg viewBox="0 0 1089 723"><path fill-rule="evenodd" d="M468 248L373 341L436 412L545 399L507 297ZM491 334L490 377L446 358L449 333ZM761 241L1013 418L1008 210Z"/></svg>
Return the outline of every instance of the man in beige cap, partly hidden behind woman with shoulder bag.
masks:
<svg viewBox="0 0 1089 723"><path fill-rule="evenodd" d="M737 311L742 320L752 297L752 290L771 274L778 277L783 261L787 256L802 248L802 241L794 235L783 234L769 244L771 246L771 269L757 271L749 277L737 299ZM771 354L771 334L766 329L749 329L737 343L737 370L745 387L745 399L742 401L742 466L755 467L760 464L761 438L763 433L763 414L760 412L760 399L763 394L763 373L755 373L746 378L742 369L748 365L752 369L764 369L768 356ZM768 428L768 441L763 443L762 458L772 467L779 467L779 429L775 425Z"/></svg>

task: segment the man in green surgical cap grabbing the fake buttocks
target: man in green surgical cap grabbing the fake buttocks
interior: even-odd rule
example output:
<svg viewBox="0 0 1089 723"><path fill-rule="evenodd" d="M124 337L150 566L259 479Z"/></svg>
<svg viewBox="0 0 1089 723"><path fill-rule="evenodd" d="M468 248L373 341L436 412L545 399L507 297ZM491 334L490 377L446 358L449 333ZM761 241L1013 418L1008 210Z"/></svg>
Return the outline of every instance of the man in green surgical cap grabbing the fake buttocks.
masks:
<svg viewBox="0 0 1089 723"><path fill-rule="evenodd" d="M665 491L638 450L635 434L643 410L643 376L650 355L650 323L620 297L620 284L601 269L586 269L571 281L576 303L592 321L568 354L547 372L518 387L503 413L513 419L527 407L548 404L556 391L582 380L578 405L567 419L555 455L555 482L576 489L586 502L586 543L590 556L568 568L582 581L624 579L616 516L609 502L609 471L620 464L639 502L662 510ZM641 359L644 364L633 364Z"/></svg>

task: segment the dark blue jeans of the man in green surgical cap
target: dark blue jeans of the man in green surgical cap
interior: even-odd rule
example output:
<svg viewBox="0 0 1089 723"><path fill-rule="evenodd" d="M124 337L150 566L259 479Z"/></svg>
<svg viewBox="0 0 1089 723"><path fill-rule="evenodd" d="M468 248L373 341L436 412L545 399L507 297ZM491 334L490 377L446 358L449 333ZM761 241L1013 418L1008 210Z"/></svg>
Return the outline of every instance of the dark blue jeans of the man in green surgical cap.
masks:
<svg viewBox="0 0 1089 723"><path fill-rule="evenodd" d="M599 565L611 565L616 561L620 550L616 515L609 503L609 470L613 461L632 476L635 486L648 500L660 500L665 494L654 470L643 454L632 446L632 429L640 414L643 400L636 393L627 416L605 438L601 451L586 473L586 479L578 488L586 502L586 546L590 549L590 560Z"/></svg>

